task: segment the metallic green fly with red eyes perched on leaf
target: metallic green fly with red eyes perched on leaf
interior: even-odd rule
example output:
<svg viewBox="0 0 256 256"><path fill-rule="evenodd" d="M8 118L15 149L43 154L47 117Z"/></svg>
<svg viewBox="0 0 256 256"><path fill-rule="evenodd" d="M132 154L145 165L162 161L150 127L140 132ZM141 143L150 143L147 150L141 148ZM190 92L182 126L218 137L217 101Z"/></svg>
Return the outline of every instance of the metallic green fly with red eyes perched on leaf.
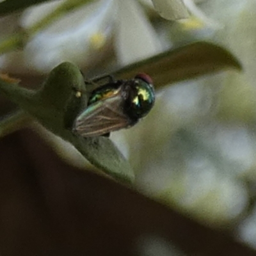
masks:
<svg viewBox="0 0 256 256"><path fill-rule="evenodd" d="M155 101L152 79L138 74L134 79L114 80L93 90L88 107L77 116L73 131L83 137L109 134L128 128L147 115Z"/></svg>

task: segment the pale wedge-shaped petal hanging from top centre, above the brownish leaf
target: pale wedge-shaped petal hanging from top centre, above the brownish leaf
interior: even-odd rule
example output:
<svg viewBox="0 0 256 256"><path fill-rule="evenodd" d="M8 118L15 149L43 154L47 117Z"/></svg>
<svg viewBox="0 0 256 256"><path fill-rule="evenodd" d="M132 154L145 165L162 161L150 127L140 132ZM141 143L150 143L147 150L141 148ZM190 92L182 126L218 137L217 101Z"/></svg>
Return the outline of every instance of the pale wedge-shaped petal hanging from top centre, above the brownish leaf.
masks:
<svg viewBox="0 0 256 256"><path fill-rule="evenodd" d="M161 52L157 33L134 0L118 1L116 54L122 65L148 58Z"/></svg>

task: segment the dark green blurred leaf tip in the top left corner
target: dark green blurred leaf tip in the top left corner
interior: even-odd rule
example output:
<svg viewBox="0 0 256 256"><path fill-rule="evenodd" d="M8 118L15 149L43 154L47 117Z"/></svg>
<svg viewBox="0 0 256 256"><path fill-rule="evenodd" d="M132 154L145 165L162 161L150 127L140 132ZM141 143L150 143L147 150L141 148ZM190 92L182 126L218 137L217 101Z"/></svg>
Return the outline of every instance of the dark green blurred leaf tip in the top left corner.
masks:
<svg viewBox="0 0 256 256"><path fill-rule="evenodd" d="M0 3L0 15L6 15L49 0L6 0Z"/></svg>

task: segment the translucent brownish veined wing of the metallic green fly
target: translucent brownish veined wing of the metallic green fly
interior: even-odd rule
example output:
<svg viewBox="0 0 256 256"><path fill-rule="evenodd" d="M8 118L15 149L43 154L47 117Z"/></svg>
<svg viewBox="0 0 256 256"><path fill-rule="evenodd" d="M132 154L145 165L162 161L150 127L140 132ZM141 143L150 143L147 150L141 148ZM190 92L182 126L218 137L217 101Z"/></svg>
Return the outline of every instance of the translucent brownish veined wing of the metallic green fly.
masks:
<svg viewBox="0 0 256 256"><path fill-rule="evenodd" d="M100 136L129 127L132 122L123 111L120 93L88 106L75 121L74 130L83 137Z"/></svg>

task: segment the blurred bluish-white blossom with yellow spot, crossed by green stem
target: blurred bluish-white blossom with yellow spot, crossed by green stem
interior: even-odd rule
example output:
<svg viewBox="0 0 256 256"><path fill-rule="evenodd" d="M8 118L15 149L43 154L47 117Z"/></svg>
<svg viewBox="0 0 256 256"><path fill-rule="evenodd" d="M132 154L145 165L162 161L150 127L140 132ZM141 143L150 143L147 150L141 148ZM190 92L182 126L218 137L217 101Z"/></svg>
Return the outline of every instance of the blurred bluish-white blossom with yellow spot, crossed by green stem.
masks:
<svg viewBox="0 0 256 256"><path fill-rule="evenodd" d="M31 28L63 1L31 7L22 13L20 26ZM80 67L90 67L104 58L109 49L116 20L115 1L99 1L68 13L49 28L37 33L21 54L11 53L9 63L2 68L16 72L49 72L63 61L73 61Z"/></svg>

